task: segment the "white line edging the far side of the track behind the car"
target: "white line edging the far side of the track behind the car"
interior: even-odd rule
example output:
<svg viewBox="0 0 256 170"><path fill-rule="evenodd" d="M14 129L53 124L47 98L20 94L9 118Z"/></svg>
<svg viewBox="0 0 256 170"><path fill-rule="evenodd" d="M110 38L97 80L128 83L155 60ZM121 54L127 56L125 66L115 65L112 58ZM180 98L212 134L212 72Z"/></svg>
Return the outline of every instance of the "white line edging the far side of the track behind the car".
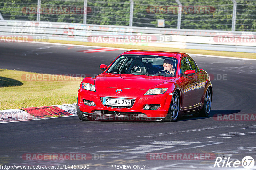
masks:
<svg viewBox="0 0 256 170"><path fill-rule="evenodd" d="M117 49L117 50L138 50L138 49L127 49L127 48L114 48L114 47L106 47L106 46L85 46L85 45L77 45L77 44L62 44L62 43L48 43L48 42L29 42L29 43L39 43L39 44L51 44L51 45L63 45L63 46L82 46L82 47L91 47L91 48L109 48L109 49ZM182 49L181 49L182 50ZM236 60L252 60L256 61L256 59L248 59L248 58L240 58L240 57L226 57L226 56L217 56L217 55L204 55L204 54L189 54L191 56L201 56L201 57L215 57L215 58L226 58L226 59L236 59ZM256 55L256 54L255 54Z"/></svg>

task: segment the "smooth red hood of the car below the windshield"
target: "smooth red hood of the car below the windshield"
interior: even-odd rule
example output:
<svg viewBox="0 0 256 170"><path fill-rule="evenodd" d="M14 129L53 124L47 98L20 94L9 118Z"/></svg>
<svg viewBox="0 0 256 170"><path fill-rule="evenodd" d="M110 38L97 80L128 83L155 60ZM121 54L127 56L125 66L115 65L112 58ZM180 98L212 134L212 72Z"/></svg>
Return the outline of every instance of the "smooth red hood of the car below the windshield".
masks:
<svg viewBox="0 0 256 170"><path fill-rule="evenodd" d="M166 81L175 80L173 77L110 74L102 73L95 77L95 87L114 87L128 89L150 89Z"/></svg>

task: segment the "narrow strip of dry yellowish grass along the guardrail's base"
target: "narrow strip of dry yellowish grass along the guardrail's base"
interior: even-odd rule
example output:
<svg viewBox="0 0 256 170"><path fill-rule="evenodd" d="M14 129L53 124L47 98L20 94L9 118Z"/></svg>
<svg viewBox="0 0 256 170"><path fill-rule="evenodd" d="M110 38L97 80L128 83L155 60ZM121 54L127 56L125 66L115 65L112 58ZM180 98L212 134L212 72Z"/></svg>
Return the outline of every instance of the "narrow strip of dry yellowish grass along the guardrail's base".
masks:
<svg viewBox="0 0 256 170"><path fill-rule="evenodd" d="M180 49L180 48L152 47L152 46L135 46L135 45L124 45L124 44L91 43L91 42L63 41L63 40L48 40L48 42L63 43L63 44L77 44L77 45L85 45L85 46L104 46L104 47L114 47L114 48L140 49L140 50L170 51L170 52L181 52L181 53L190 53L190 54L204 54L204 55L217 55L217 56L256 59L256 53Z"/></svg>

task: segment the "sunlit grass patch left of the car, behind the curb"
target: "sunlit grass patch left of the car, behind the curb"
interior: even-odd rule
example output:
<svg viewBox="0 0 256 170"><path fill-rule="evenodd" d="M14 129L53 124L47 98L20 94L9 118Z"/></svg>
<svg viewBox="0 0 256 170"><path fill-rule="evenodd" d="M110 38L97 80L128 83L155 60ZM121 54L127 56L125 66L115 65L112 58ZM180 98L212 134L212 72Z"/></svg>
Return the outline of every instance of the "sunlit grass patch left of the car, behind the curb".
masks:
<svg viewBox="0 0 256 170"><path fill-rule="evenodd" d="M33 73L0 69L0 110L76 103L82 79L25 81L23 74Z"/></svg>

